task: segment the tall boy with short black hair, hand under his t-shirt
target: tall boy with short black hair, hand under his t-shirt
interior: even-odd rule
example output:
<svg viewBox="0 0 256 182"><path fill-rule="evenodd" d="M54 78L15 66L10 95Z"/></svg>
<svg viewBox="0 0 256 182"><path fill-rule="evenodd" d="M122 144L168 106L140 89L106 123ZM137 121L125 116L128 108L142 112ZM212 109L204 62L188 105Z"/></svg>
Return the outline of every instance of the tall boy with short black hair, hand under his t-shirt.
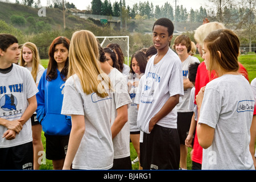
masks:
<svg viewBox="0 0 256 182"><path fill-rule="evenodd" d="M138 90L138 127L143 133L143 169L179 169L180 142L177 110L183 96L182 67L170 49L174 24L156 20L152 40L158 53L147 63L142 90Z"/></svg>

